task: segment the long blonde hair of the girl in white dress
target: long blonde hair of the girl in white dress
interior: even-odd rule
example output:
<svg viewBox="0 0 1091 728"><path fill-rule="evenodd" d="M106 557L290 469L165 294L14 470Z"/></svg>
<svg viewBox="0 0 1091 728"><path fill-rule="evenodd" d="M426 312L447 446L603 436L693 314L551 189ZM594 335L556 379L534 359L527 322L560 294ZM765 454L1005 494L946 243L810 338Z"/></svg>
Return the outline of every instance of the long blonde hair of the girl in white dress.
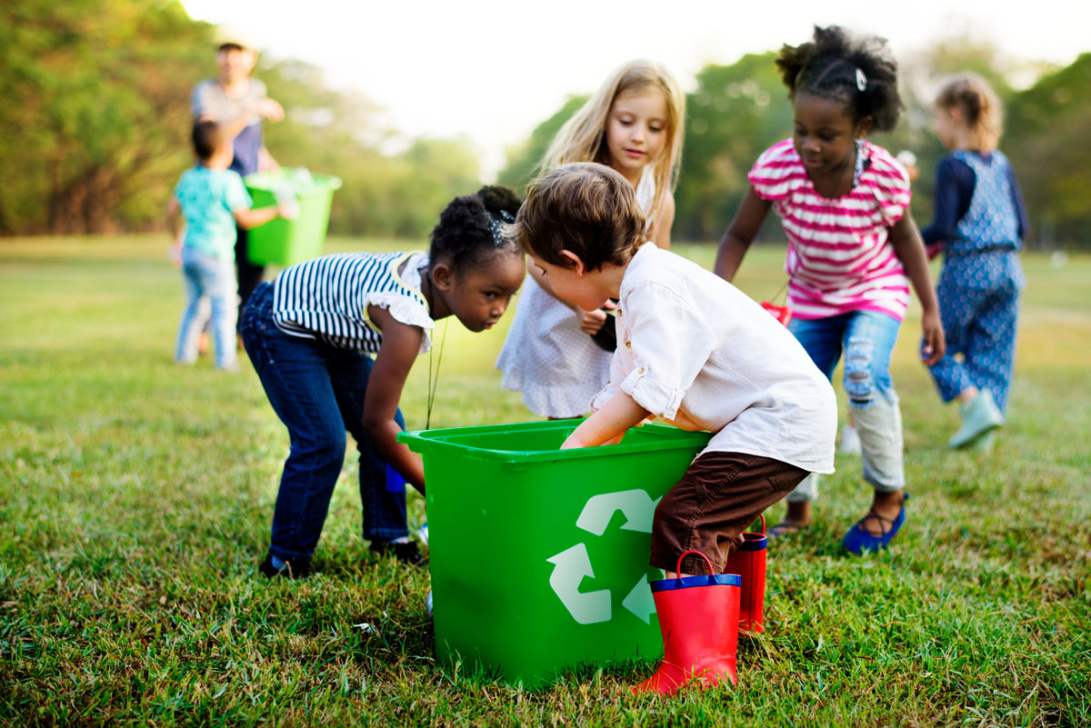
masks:
<svg viewBox="0 0 1091 728"><path fill-rule="evenodd" d="M655 165L656 197L648 213L656 220L667 194L674 192L682 165L682 138L685 129L685 96L667 69L646 60L618 66L591 98L565 122L546 151L539 173L574 161L595 161L610 166L607 148L607 120L614 101L622 96L638 96L658 90L667 100L667 141Z"/></svg>

